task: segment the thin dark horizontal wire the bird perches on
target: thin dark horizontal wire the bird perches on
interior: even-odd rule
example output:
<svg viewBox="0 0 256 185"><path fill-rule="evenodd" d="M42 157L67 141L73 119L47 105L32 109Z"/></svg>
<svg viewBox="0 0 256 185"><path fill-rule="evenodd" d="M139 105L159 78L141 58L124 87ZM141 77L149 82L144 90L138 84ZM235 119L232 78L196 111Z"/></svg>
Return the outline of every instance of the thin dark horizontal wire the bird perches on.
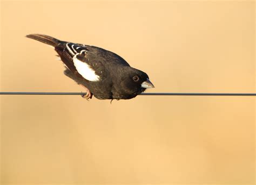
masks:
<svg viewBox="0 0 256 185"><path fill-rule="evenodd" d="M0 92L0 95L86 95L86 93ZM256 93L142 93L151 96L256 96Z"/></svg>

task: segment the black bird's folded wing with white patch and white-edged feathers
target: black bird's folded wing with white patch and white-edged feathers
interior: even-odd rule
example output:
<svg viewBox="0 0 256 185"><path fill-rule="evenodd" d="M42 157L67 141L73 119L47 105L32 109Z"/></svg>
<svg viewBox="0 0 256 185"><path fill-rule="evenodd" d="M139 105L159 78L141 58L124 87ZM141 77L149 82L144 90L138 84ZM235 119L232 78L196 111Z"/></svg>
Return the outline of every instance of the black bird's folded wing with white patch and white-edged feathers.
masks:
<svg viewBox="0 0 256 185"><path fill-rule="evenodd" d="M96 82L103 79L104 66L102 62L97 61L97 58L92 57L89 48L90 46L66 42L62 46L55 47L55 50L72 73Z"/></svg>

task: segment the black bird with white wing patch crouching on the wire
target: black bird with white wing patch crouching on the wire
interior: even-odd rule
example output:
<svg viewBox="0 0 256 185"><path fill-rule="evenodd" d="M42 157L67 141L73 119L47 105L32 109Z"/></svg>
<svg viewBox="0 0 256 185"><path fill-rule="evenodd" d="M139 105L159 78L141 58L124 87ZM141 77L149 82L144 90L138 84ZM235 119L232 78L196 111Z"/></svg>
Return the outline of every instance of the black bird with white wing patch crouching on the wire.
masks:
<svg viewBox="0 0 256 185"><path fill-rule="evenodd" d="M106 49L58 40L44 34L26 37L52 46L63 61L64 74L86 90L83 98L131 99L154 88L149 76Z"/></svg>

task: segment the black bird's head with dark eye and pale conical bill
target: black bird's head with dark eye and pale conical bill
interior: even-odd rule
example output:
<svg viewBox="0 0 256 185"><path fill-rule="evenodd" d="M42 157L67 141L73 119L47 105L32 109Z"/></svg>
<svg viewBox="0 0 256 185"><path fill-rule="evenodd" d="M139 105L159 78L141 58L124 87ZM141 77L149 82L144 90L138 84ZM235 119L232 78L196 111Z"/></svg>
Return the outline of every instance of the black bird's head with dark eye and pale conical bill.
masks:
<svg viewBox="0 0 256 185"><path fill-rule="evenodd" d="M141 70L127 67L123 70L123 74L120 86L129 94L138 95L147 88L154 88L149 76Z"/></svg>

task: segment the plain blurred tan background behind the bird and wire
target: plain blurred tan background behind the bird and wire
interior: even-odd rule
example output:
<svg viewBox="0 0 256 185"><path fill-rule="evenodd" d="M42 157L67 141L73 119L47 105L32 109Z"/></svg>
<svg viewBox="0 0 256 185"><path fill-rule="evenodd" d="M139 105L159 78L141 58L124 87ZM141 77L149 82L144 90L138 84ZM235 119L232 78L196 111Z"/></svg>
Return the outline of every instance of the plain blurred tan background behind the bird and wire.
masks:
<svg viewBox="0 0 256 185"><path fill-rule="evenodd" d="M109 49L147 92L255 92L255 3L1 1L1 91L79 92L49 34ZM255 98L1 96L2 184L254 184Z"/></svg>

